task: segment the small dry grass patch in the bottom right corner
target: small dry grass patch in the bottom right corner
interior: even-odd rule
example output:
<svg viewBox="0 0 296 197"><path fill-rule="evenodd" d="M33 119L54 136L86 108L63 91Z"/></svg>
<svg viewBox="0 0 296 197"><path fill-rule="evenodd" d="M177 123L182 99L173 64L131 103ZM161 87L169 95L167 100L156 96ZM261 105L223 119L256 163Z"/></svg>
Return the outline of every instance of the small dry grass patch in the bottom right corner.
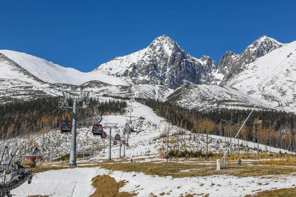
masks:
<svg viewBox="0 0 296 197"><path fill-rule="evenodd" d="M287 188L280 190L268 190L253 196L246 195L245 197L296 197L296 189Z"/></svg>

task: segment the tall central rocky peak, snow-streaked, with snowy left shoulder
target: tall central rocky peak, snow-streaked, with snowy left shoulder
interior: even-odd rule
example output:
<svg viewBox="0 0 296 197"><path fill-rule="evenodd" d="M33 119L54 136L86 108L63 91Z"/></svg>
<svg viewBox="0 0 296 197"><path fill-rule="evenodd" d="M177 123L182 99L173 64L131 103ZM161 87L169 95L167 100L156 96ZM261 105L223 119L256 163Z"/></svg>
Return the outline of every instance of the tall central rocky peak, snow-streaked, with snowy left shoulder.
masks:
<svg viewBox="0 0 296 197"><path fill-rule="evenodd" d="M93 71L99 70L117 77L127 76L134 83L141 84L158 77L165 86L178 88L188 83L212 83L214 76L211 73L215 69L216 62L210 57L194 58L171 38L162 35L147 48L114 58Z"/></svg>

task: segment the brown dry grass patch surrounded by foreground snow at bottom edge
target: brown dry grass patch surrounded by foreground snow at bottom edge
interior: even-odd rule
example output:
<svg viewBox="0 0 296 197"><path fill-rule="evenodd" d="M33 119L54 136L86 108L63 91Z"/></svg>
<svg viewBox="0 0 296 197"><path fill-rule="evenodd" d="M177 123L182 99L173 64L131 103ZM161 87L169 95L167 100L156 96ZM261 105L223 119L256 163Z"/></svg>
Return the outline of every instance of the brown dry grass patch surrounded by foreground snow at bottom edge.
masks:
<svg viewBox="0 0 296 197"><path fill-rule="evenodd" d="M92 179L92 186L96 191L90 197L134 197L137 194L128 192L119 192L119 189L124 186L125 181L118 183L114 178L108 175L99 175Z"/></svg>

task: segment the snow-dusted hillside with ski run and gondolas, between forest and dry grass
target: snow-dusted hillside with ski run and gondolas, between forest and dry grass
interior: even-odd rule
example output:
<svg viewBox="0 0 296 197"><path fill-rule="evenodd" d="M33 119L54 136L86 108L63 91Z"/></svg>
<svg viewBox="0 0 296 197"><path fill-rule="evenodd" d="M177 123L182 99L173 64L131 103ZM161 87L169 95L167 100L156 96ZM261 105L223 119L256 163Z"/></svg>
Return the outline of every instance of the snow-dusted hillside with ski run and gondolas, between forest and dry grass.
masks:
<svg viewBox="0 0 296 197"><path fill-rule="evenodd" d="M130 108L131 105L128 105L126 108L126 113L121 115L108 115L103 116L102 124L104 123L117 123L117 127L119 129L118 133L121 136L127 137L123 134L123 127L125 126L125 123L127 120L129 120L129 113L127 112L128 108ZM136 133L132 132L130 134L130 138L128 140L129 147L125 147L125 155L127 158L151 158L155 156L159 156L158 150L163 146L163 139L159 138L159 135L162 134L164 131L165 133L168 130L169 123L159 116L157 116L151 108L149 108L146 105L143 105L139 102L133 102L133 112L132 112L132 124L131 126L134 128L139 128L141 132ZM141 118L142 117L142 118ZM77 120L78 124L80 119ZM174 126L174 129L172 126L170 126L170 139L173 141L173 132L177 132L177 127ZM105 129L107 134L109 135L109 129ZM112 129L111 139L113 141L113 137L116 133L115 129ZM10 138L6 144L10 145L16 145L16 144L24 144L27 145L27 148L30 149L30 146L35 145L39 147L40 155L46 156L51 148L55 146L59 140L64 136L65 134L61 134L59 130L53 130L49 132L44 133L33 133L33 134L27 134L15 138ZM206 151L206 142L205 142L206 135L205 134L190 134L190 131L184 131L182 142L180 142L180 149L182 149L182 144L186 144L186 148L197 151L202 149L203 153ZM175 136L176 139L176 136ZM181 140L180 140L181 141ZM239 140L239 144L243 143L243 140ZM0 141L1 143L1 141ZM227 139L222 136L217 135L210 135L209 136L209 152L213 153L221 153L223 150L225 150L227 146ZM237 142L235 142L237 144ZM71 144L71 133L66 134L66 138L59 144L57 149L54 151L54 158L61 157L62 155L65 155L67 153L70 153L70 144ZM108 139L105 140L106 150L105 153L103 153L103 144L104 140L100 137L95 137L91 133L91 125L89 127L83 127L77 129L77 152L83 153L83 152L93 152L94 155L91 158L91 160L99 161L102 159L107 159L108 156ZM189 147L189 144L191 145ZM249 142L250 147L254 147L253 142ZM176 148L177 144L170 144L169 148ZM237 152L237 147L233 147L233 151ZM184 147L183 147L184 148ZM259 144L259 148L264 150L265 146L262 144ZM270 147L268 147L269 151ZM118 158L119 156L119 145L113 145L111 149L111 157L113 159ZM123 149L121 150L123 151ZM271 152L279 152L282 153L287 152L283 149L273 148L271 147ZM21 155L23 156L28 152L23 152ZM255 150L249 150L249 153L256 153ZM156 160L159 160L159 158L155 158Z"/></svg>

